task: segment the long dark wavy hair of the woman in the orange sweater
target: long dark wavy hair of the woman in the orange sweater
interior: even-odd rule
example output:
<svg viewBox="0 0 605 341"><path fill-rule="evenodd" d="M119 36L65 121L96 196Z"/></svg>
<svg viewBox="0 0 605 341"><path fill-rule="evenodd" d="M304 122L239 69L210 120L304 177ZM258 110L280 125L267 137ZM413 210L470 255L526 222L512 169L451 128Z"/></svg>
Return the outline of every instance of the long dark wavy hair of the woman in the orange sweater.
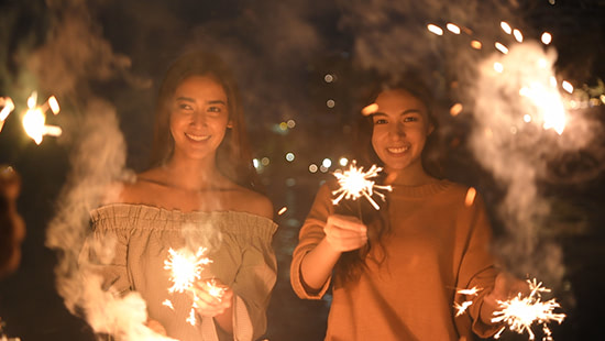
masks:
<svg viewBox="0 0 605 341"><path fill-rule="evenodd" d="M369 91L365 101L361 102L359 108L359 119L355 122L355 136L353 154L358 161L358 166L369 169L372 165L377 165L384 168L383 161L378 157L372 145L372 134L374 132L374 121L372 116L362 116L361 109L373 103L378 95L386 90L400 89L409 92L411 96L419 99L427 108L429 123L435 127L433 132L427 138L425 148L422 150L421 161L425 170L435 177L442 177L442 169L439 165L438 157L432 156L432 150L437 145L437 120L432 113L433 97L429 87L422 81L419 75L407 73L398 75L396 78L378 77L374 81L374 86ZM382 185L386 180L386 174L381 172L376 184ZM359 250L345 252L339 258L334 270L334 274L341 283L358 280L361 272L367 266L367 262L382 264L388 256L384 248L384 239L388 238L391 232L391 221L388 219L389 195L386 193L386 201L374 198L381 206L380 210L374 209L367 200L358 200L356 204L346 202L342 210L346 210L349 215L360 216L367 227L367 244ZM370 251L373 250L372 256Z"/></svg>

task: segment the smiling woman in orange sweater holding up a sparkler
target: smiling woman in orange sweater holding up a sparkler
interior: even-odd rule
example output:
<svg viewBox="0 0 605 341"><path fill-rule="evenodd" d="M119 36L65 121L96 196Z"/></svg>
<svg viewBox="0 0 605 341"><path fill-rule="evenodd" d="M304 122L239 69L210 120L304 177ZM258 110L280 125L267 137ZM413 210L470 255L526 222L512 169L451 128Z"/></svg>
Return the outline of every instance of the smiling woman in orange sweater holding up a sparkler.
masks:
<svg viewBox="0 0 605 341"><path fill-rule="evenodd" d="M384 168L377 182L393 190L377 200L381 209L363 198L334 205L338 186L328 183L300 230L292 285L299 297L320 299L332 284L326 340L470 340L499 328L492 312L514 282L494 266L481 197L427 170L436 129L429 94L404 76L366 103L358 165ZM458 294L473 287L477 296ZM458 315L454 305L466 300L473 304Z"/></svg>

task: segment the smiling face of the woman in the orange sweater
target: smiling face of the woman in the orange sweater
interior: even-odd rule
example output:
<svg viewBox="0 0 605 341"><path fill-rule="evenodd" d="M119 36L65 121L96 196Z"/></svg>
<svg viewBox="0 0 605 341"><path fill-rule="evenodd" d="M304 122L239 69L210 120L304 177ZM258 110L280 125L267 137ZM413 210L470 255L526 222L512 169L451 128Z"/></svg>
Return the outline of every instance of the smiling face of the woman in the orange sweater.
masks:
<svg viewBox="0 0 605 341"><path fill-rule="evenodd" d="M382 92L375 103L372 146L386 172L424 173L421 154L433 130L427 107L403 89Z"/></svg>

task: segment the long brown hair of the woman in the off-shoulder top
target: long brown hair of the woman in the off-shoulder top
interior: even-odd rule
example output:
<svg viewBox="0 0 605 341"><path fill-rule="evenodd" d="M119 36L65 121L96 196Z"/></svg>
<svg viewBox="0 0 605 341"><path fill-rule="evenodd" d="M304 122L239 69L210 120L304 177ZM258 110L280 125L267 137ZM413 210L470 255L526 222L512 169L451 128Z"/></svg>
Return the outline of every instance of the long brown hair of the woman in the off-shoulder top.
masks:
<svg viewBox="0 0 605 341"><path fill-rule="evenodd" d="M191 76L211 77L223 87L227 95L229 119L232 127L227 129L217 150L217 168L235 184L262 191L261 183L252 164L241 96L235 78L220 57L205 52L193 52L177 58L168 68L160 86L151 166L162 166L173 156L175 142L169 123L170 101L176 88Z"/></svg>

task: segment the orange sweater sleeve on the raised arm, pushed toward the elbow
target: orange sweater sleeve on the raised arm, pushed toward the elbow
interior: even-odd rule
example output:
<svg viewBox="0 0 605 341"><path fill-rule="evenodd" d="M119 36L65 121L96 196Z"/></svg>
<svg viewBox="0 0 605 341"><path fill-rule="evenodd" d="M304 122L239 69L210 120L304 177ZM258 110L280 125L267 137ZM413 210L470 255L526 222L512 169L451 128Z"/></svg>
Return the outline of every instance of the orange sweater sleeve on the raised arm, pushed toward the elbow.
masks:
<svg viewBox="0 0 605 341"><path fill-rule="evenodd" d="M331 276L317 293L307 290L300 276L300 265L308 252L314 250L326 237L323 227L328 217L333 213L332 193L328 185L322 185L317 193L311 210L300 229L298 245L294 250L290 265L290 283L298 297L306 299L321 299L330 286Z"/></svg>

